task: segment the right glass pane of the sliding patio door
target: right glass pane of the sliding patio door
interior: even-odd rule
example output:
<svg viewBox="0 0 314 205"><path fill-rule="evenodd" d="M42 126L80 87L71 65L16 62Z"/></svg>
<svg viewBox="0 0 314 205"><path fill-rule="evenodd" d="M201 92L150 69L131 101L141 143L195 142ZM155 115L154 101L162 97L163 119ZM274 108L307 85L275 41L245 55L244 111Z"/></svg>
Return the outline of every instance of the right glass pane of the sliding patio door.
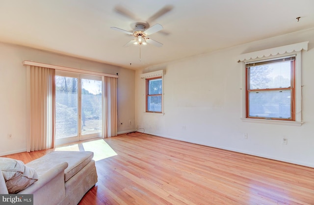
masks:
<svg viewBox="0 0 314 205"><path fill-rule="evenodd" d="M102 132L102 81L81 79L82 135Z"/></svg>

